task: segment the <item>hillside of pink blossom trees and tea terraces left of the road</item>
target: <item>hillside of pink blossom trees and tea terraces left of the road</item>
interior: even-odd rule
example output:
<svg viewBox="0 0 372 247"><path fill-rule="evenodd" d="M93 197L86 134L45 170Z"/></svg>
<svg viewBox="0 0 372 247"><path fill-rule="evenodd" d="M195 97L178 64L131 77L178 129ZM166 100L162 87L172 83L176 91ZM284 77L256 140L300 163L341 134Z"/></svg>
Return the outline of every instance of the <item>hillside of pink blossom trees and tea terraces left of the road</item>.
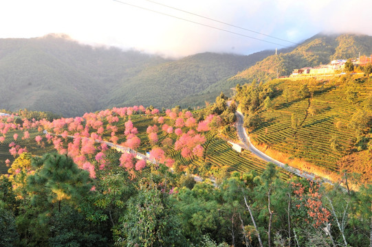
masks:
<svg viewBox="0 0 372 247"><path fill-rule="evenodd" d="M219 104L211 104L208 108L193 113L173 108L172 111L166 110L165 113L160 114L156 108L152 110L148 108L144 111L142 106L142 110L138 110L138 106L135 106L135 110L113 108L98 113L85 113L83 118L59 119L55 117L47 121L44 118L41 119L45 117L45 113L37 115L35 112L21 110L19 117L14 115L3 117L3 123L0 122L2 133L0 136L0 153L2 154L0 173L6 174L6 164L14 161L14 158L23 152L42 155L51 150L61 153L68 151L69 155L75 158L74 161L83 166L79 157L86 153L82 151L78 155L78 146L70 147L75 141L66 138L67 134L78 134L79 138L91 137L118 143L138 150L142 154L154 148L161 148L162 152L179 167L177 168L179 171L205 177L216 176L218 178L219 174L233 171L255 171L257 174L262 174L266 167L265 162L248 151L243 151L241 154L235 152L226 141L228 139L237 141L237 134L234 127L230 126L234 121L231 117L231 115L234 116L233 110L226 106L224 96L221 96L223 99L217 97ZM132 111L136 114L132 114ZM221 117L216 116L216 113L221 114ZM96 123L92 124L94 121ZM82 125L76 126L78 123ZM204 127L199 127L203 124ZM212 125L217 127L212 127ZM50 135L45 136L43 133L45 129L48 132L60 134L62 138L52 139ZM136 134L135 138L134 134ZM193 144L194 139L196 144ZM133 140L136 140L137 144L134 145ZM177 148L179 147L177 143L180 141L183 141L182 147ZM87 144L89 143L81 144L82 150ZM194 150L197 145L199 151ZM94 156L100 153L100 145L96 143L96 148L94 146L90 148L94 152L90 153L88 161L95 163L97 161ZM109 157L109 155L106 156ZM120 157L120 152L116 152L115 156ZM285 171L279 174L283 179L289 178L289 174Z"/></svg>

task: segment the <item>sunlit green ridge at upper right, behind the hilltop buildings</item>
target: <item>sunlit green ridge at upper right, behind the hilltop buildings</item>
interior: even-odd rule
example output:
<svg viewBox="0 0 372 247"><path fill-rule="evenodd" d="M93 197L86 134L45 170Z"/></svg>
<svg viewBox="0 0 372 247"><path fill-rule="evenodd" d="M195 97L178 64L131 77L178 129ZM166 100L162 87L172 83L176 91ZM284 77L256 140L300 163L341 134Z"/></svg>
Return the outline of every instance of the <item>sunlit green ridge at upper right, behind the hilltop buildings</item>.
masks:
<svg viewBox="0 0 372 247"><path fill-rule="evenodd" d="M316 67L335 59L358 58L359 52L367 56L372 54L371 36L317 34L294 49L279 50L278 55L268 56L249 69L234 75L230 81L234 84L244 84L252 80L267 82L277 76L290 75L293 69Z"/></svg>

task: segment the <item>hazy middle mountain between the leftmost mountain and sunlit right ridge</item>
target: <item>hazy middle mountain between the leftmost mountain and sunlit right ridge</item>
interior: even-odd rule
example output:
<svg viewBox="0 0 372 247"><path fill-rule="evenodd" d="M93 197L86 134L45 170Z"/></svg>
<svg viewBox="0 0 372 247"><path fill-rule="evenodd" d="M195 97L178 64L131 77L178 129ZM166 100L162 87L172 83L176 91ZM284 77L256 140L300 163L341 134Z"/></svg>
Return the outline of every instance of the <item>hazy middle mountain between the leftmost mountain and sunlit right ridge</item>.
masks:
<svg viewBox="0 0 372 247"><path fill-rule="evenodd" d="M221 91L230 90L229 84L217 85L269 53L272 51L250 56L207 52L148 67L133 78L123 78L109 97L109 106L203 106L206 100L214 101Z"/></svg>

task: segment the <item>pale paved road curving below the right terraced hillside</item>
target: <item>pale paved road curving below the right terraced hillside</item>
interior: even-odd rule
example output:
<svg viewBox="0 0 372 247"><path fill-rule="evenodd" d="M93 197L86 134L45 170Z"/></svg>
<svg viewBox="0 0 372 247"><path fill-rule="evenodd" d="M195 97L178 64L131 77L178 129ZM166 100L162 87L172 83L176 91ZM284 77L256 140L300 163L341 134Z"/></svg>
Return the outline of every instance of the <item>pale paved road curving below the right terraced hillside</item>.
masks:
<svg viewBox="0 0 372 247"><path fill-rule="evenodd" d="M296 174L297 176L300 176L303 178L309 178L311 180L315 179L316 175L308 173L308 172L304 172L294 167L290 167L288 165L285 165L284 163L281 163L280 161L276 161L274 158L267 156L265 153L261 152L256 147L254 147L254 145L252 145L252 143L250 142L250 137L248 137L248 134L245 131L245 128L243 127L243 122L244 122L243 114L237 110L235 115L237 115L237 122L235 123L235 126L237 128L237 134L241 141L242 148L245 148L245 150L250 150L252 154L255 154L256 156L263 159L264 161L274 163L278 167L282 167L283 169L287 170L288 172L292 172L293 174ZM322 180L325 183L331 183L331 181L327 180L326 178L322 178Z"/></svg>

